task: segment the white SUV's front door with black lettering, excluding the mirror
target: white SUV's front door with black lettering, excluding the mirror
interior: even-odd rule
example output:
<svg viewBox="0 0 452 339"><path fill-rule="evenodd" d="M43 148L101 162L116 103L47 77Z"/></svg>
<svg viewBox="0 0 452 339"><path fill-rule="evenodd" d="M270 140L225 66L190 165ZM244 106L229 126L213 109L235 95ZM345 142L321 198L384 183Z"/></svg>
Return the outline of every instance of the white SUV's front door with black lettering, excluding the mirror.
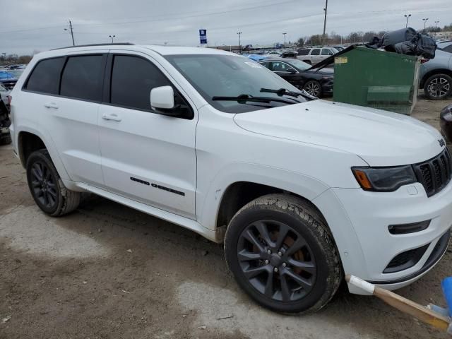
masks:
<svg viewBox="0 0 452 339"><path fill-rule="evenodd" d="M138 53L111 52L99 128L105 186L115 194L195 218L197 114L167 76ZM150 90L172 85L180 117L155 112Z"/></svg>

